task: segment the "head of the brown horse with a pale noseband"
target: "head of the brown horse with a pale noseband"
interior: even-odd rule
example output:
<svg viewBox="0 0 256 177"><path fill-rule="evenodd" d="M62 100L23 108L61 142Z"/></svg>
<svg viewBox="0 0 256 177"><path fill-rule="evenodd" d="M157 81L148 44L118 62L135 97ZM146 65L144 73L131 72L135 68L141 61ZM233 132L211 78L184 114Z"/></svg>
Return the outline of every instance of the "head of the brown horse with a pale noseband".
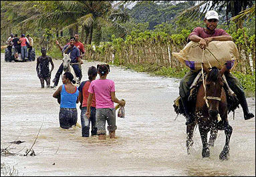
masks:
<svg viewBox="0 0 256 177"><path fill-rule="evenodd" d="M209 115L216 117L219 114L219 102L221 101L221 92L224 85L222 76L226 71L226 65L219 71L217 67L211 68L211 70L204 67L207 73L205 82L206 101L209 106Z"/></svg>

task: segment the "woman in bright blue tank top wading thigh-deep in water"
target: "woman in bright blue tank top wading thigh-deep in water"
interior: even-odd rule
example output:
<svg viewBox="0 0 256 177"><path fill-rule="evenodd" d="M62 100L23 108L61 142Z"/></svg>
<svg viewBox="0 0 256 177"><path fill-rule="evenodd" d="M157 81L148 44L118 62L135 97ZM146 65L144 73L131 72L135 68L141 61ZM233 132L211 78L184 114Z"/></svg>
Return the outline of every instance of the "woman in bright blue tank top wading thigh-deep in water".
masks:
<svg viewBox="0 0 256 177"><path fill-rule="evenodd" d="M72 84L74 77L72 73L66 72L63 74L62 83L53 93L54 98L60 96L59 108L59 125L61 128L71 128L76 126L78 121L78 110L76 104L78 103L78 88Z"/></svg>

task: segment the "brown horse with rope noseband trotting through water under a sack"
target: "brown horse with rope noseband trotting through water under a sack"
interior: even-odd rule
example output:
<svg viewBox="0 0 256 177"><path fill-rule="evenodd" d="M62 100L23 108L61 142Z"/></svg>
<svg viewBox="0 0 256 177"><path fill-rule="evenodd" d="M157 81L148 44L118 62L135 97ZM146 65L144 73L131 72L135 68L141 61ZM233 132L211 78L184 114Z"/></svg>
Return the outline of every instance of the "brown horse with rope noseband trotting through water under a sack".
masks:
<svg viewBox="0 0 256 177"><path fill-rule="evenodd" d="M207 73L205 87L202 84L199 87L195 107L195 122L186 126L186 148L189 154L190 146L193 144L193 132L195 125L199 124L199 132L203 143L202 156L203 158L210 156L209 146L213 146L217 138L218 130L225 130L226 142L223 151L219 155L221 160L229 158L229 140L233 128L227 120L227 96L223 88L223 74L226 71L226 66L219 71L216 67L211 70L204 67ZM209 142L207 142L207 134L210 132Z"/></svg>

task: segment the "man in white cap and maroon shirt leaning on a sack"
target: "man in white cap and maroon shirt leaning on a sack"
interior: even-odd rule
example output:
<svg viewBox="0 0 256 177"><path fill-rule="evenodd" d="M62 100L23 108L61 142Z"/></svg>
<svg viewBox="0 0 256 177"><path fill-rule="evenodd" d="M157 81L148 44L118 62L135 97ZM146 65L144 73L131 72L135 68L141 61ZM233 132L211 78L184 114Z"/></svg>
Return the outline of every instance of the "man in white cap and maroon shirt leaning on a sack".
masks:
<svg viewBox="0 0 256 177"><path fill-rule="evenodd" d="M218 13L216 11L208 11L204 19L206 28L195 28L193 32L188 35L188 41L194 41L199 43L199 47L201 47L201 49L205 49L211 41L232 41L232 37L228 33L226 33L226 31L224 31L223 29L216 29L218 22ZM243 108L244 118L245 120L253 118L253 113L249 112L248 110L247 100L245 98L245 92L243 91L243 87L241 86L241 83L239 83L239 80L230 73L229 69L231 68L227 67L227 71L224 75L227 79L229 87L237 95L239 103ZM188 96L190 85L193 84L193 81L195 80L199 72L200 71L189 71L180 81L179 94L181 98L180 100L184 108L184 112L186 114L186 125L193 123L195 120L195 117L188 112Z"/></svg>

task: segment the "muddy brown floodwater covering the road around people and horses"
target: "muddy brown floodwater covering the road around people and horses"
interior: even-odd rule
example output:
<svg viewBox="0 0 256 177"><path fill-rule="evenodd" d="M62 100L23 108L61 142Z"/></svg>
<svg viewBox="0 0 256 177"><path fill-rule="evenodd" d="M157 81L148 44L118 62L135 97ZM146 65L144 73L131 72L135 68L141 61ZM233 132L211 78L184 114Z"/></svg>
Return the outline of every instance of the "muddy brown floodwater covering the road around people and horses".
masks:
<svg viewBox="0 0 256 177"><path fill-rule="evenodd" d="M53 63L51 80L61 61ZM88 68L97 64L84 62L82 81L88 80ZM244 120L241 108L235 111L235 120L229 114L233 127L229 160L219 160L223 131L210 148L210 158L202 158L198 128L187 155L185 118L176 118L172 106L179 80L110 66L108 79L115 82L116 97L126 100L126 117L116 117L115 139L82 138L78 126L59 128L54 90L41 88L35 66L36 61L5 63L1 54L1 148L21 140L25 142L9 149L25 154L43 122L33 146L36 156L1 156L1 164L14 167L19 176L255 176L255 118ZM255 114L255 97L247 101ZM79 104L77 108L81 124Z"/></svg>

